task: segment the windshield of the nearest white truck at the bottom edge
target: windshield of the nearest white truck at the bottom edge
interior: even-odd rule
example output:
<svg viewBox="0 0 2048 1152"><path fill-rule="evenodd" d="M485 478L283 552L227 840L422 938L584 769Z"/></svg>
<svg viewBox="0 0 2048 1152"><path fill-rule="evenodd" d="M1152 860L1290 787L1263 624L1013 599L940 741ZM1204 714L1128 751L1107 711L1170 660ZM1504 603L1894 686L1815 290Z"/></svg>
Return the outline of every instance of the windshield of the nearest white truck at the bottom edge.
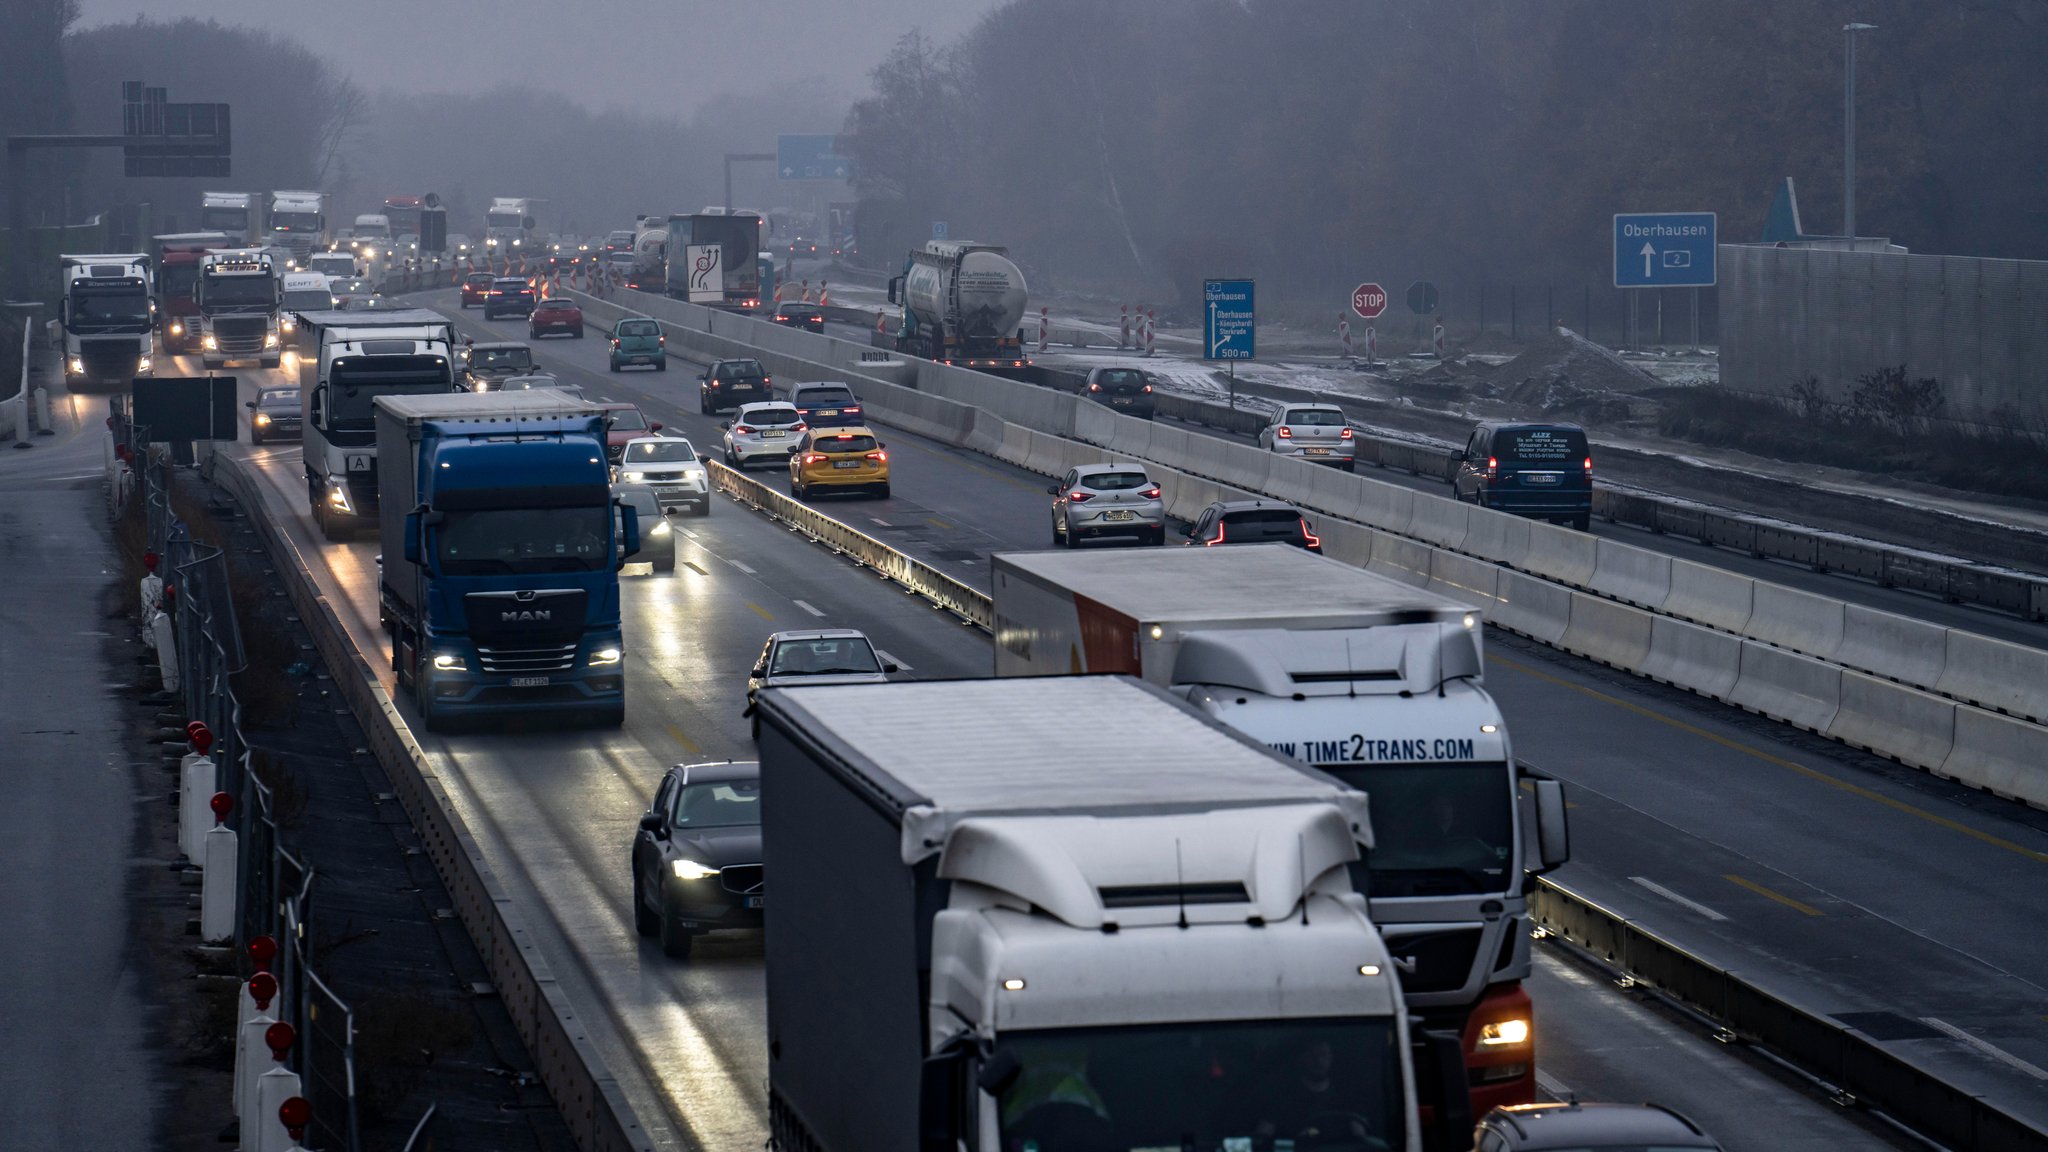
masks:
<svg viewBox="0 0 2048 1152"><path fill-rule="evenodd" d="M1001 1148L1405 1148L1401 1052L1384 1019L1020 1031Z"/></svg>

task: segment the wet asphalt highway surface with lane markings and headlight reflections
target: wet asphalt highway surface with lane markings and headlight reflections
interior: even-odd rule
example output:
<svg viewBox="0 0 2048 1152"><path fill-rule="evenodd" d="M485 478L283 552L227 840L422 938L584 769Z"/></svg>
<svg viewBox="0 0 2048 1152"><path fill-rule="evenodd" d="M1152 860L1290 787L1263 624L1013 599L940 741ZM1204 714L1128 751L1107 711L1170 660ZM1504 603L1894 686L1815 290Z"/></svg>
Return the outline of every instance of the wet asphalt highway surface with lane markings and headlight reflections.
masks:
<svg viewBox="0 0 2048 1152"><path fill-rule="evenodd" d="M453 293L422 299L463 316ZM522 336L516 322L461 324L479 338ZM637 402L715 451L715 420L696 414L684 365L608 375L596 332L541 342L537 355L590 396ZM258 375L246 373L248 387ZM885 441L895 496L825 510L977 586L991 551L1047 543L1044 478L895 430ZM383 652L375 543L324 545L309 533L295 447L233 451L258 465L264 512L291 529L356 644ZM672 963L633 935L625 849L645 797L668 763L750 754L743 670L776 627L864 627L913 676L985 674L989 648L729 500L676 525L686 529L676 574L629 580L623 732L422 742L571 998L600 1017L600 1047L641 1119L674 1148L758 1146L760 943L711 937L692 961ZM2048 910L2040 814L1501 633L1491 664L1518 754L1573 787L1565 883L1753 980L1798 986L1825 1011L1933 1017L1976 1043L1933 1025L1921 1029L1933 1039L1898 1043L1935 1052L1956 1078L1980 1078L2013 1103L2040 1095L2009 1062L2048 1064L2038 1015L2048 961L2023 929ZM1731 1148L1884 1140L1548 951L1534 994L1542 1062L1585 1097L1671 1103Z"/></svg>

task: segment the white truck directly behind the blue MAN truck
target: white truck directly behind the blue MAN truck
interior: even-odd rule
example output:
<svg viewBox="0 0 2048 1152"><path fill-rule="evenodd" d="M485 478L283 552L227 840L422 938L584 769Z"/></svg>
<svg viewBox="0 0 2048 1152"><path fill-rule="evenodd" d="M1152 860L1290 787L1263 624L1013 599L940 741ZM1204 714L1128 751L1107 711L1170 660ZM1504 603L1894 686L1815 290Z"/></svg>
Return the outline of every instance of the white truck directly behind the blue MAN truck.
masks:
<svg viewBox="0 0 2048 1152"><path fill-rule="evenodd" d="M438 312L299 312L305 504L326 539L377 523L379 396L457 389L455 324Z"/></svg>

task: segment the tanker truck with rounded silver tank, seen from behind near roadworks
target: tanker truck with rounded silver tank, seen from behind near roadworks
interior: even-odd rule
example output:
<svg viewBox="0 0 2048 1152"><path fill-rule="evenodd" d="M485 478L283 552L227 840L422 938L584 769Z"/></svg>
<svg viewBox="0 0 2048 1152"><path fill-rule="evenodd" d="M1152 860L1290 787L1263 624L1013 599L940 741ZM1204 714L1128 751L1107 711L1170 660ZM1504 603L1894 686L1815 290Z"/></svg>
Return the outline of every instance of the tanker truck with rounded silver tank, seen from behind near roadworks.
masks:
<svg viewBox="0 0 2048 1152"><path fill-rule="evenodd" d="M1024 367L1024 273L1010 250L965 240L932 240L889 281L901 305L897 353L965 367Z"/></svg>

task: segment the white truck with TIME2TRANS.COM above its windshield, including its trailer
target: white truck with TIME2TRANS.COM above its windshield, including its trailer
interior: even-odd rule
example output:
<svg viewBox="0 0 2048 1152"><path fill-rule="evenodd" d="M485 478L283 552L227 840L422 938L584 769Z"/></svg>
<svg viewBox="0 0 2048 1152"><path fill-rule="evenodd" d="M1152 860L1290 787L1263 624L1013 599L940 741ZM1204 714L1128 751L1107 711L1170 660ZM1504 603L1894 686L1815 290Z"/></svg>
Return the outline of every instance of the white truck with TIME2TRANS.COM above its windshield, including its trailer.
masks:
<svg viewBox="0 0 2048 1152"><path fill-rule="evenodd" d="M1372 795L1372 920L1409 1006L1462 1037L1475 1109L1536 1099L1526 892L1565 863L1565 806L1516 765L1479 613L1286 545L997 553L991 576L997 676L1145 676Z"/></svg>

